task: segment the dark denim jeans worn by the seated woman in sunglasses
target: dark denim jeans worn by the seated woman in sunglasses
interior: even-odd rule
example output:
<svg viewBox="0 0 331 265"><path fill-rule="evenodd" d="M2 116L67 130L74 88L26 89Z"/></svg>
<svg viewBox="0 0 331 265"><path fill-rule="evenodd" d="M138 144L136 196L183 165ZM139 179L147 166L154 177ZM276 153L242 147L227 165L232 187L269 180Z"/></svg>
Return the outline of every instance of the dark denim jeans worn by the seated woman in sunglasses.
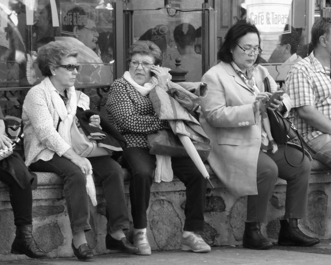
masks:
<svg viewBox="0 0 331 265"><path fill-rule="evenodd" d="M121 166L110 156L92 157L90 160L95 182L101 182L106 199L107 233L129 228L129 214L124 195ZM64 194L72 233L91 229L86 176L69 159L54 154L50 161L38 160L31 170L54 172L64 179Z"/></svg>

